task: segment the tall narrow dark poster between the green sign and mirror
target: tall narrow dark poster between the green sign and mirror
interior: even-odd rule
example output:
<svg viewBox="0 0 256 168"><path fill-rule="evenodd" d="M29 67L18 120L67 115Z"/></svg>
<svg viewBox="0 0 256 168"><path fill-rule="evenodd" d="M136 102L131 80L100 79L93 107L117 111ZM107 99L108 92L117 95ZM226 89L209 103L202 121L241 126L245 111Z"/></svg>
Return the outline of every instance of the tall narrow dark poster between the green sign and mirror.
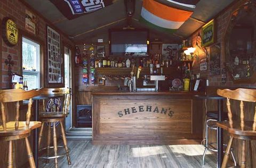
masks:
<svg viewBox="0 0 256 168"><path fill-rule="evenodd" d="M220 75L220 43L210 47L210 76Z"/></svg>

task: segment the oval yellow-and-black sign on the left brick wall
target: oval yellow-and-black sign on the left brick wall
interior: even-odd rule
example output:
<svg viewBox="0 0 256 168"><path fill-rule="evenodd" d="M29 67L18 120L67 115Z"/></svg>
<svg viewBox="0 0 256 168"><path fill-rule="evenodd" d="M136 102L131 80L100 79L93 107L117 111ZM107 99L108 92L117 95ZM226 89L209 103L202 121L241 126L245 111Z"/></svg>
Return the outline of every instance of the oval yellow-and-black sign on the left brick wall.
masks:
<svg viewBox="0 0 256 168"><path fill-rule="evenodd" d="M11 18L4 18L2 21L2 37L4 43L13 47L19 40L19 29L17 24Z"/></svg>

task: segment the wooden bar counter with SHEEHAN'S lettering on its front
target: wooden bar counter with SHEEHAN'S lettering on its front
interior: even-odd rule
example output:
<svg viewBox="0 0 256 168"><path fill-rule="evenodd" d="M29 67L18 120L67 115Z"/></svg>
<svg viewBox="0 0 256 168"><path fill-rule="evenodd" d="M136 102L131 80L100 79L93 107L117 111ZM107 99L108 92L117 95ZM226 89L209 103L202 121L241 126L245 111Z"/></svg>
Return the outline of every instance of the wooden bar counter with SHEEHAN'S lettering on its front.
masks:
<svg viewBox="0 0 256 168"><path fill-rule="evenodd" d="M202 110L197 110L196 94L93 92L92 142L198 144L202 140Z"/></svg>

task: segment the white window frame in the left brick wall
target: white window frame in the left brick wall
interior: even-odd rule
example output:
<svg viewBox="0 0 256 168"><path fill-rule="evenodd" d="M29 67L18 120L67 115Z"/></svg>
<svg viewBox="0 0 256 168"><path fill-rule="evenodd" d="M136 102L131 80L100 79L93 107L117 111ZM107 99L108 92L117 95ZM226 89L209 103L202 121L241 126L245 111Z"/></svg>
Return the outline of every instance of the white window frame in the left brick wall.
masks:
<svg viewBox="0 0 256 168"><path fill-rule="evenodd" d="M41 87L41 82L40 82L40 79L41 79L41 77L40 77L40 70L41 70L41 67L40 67L40 60L41 60L41 58L40 58L40 49L41 49L41 45L39 43L36 43L35 41L29 39L29 38L22 37L21 49L22 49L23 42L36 46L36 64L35 64L35 70L36 71L23 70L22 69L22 75L23 74L36 75L37 76L37 85L36 85L36 87L37 87L37 89L39 89ZM23 51L21 53L23 53ZM22 54L22 67L23 67L23 54Z"/></svg>

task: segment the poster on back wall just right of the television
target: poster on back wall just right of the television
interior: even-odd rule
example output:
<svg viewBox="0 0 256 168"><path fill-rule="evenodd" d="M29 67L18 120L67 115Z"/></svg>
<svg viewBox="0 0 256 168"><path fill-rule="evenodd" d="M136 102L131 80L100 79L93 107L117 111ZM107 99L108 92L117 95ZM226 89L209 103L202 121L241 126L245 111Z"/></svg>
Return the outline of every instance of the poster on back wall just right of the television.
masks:
<svg viewBox="0 0 256 168"><path fill-rule="evenodd" d="M178 44L163 44L163 60L173 60L177 51Z"/></svg>

